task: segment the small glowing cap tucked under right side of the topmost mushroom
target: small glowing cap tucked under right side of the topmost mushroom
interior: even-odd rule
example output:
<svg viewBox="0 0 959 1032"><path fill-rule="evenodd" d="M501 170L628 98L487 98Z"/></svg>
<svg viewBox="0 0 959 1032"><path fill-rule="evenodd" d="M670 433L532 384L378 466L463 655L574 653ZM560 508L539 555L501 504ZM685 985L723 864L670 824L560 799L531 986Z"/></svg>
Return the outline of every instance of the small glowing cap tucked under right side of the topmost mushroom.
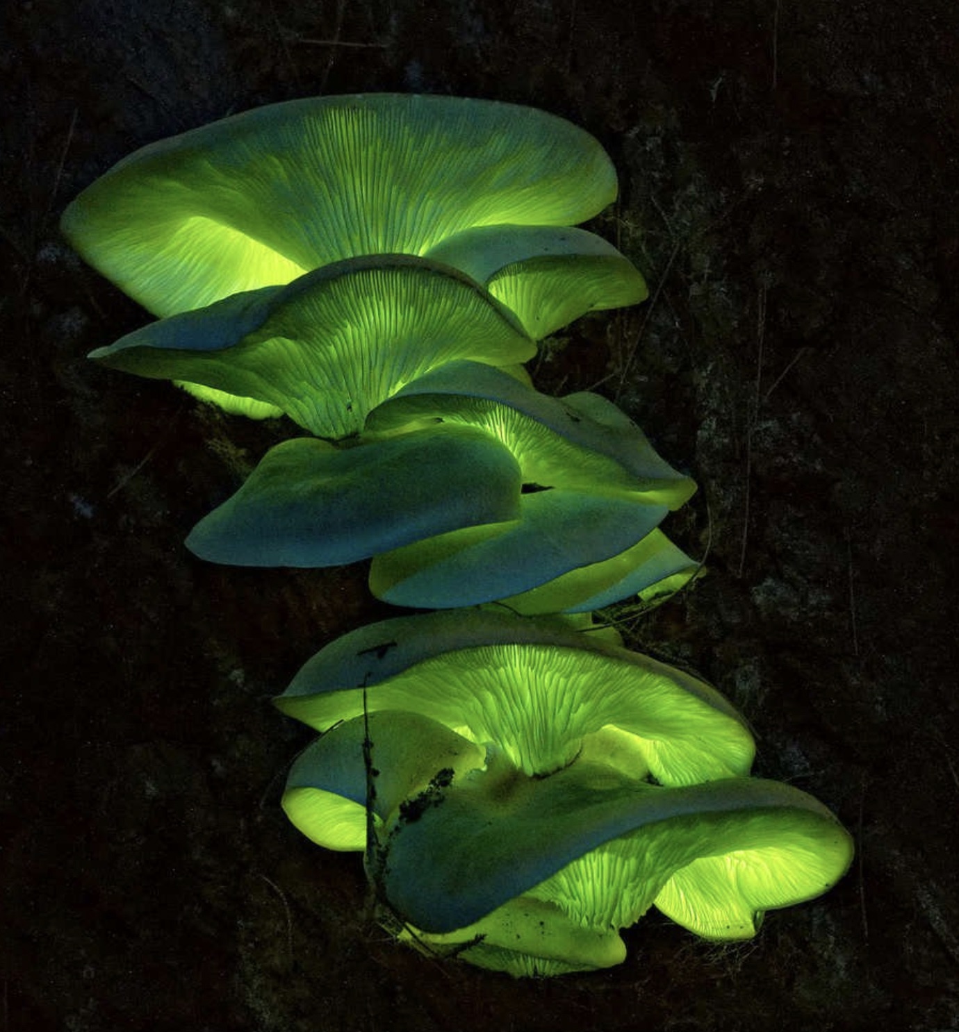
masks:
<svg viewBox="0 0 959 1032"><path fill-rule="evenodd" d="M425 257L473 277L539 341L574 319L645 300L636 266L602 237L553 226L478 226Z"/></svg>

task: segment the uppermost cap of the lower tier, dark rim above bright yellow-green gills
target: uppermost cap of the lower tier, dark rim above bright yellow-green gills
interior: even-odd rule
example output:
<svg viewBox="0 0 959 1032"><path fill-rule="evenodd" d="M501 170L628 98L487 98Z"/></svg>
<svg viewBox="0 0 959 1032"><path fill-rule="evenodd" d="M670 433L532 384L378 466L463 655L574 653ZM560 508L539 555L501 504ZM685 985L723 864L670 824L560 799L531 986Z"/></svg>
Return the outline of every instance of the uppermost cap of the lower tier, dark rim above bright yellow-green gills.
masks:
<svg viewBox="0 0 959 1032"><path fill-rule="evenodd" d="M753 738L705 682L556 619L468 610L396 617L331 642L276 700L326 731L363 711L406 710L494 743L531 775L589 743L636 776L691 784L745 774Z"/></svg>

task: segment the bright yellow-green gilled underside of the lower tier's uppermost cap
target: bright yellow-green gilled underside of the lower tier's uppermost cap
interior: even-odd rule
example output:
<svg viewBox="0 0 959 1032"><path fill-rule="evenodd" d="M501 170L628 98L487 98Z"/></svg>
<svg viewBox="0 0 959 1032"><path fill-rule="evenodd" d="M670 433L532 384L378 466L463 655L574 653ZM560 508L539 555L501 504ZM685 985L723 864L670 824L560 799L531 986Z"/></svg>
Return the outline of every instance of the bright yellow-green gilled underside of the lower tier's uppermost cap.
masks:
<svg viewBox="0 0 959 1032"><path fill-rule="evenodd" d="M664 784L742 774L753 761L748 731L717 694L647 656L586 641L581 648L548 642L442 649L438 642L440 654L371 680L369 712L418 713L471 742L493 742L528 775L564 767L607 728L631 737L638 776L648 770ZM363 691L319 689L321 656L305 668L307 683L294 682L276 702L325 731L362 712Z"/></svg>

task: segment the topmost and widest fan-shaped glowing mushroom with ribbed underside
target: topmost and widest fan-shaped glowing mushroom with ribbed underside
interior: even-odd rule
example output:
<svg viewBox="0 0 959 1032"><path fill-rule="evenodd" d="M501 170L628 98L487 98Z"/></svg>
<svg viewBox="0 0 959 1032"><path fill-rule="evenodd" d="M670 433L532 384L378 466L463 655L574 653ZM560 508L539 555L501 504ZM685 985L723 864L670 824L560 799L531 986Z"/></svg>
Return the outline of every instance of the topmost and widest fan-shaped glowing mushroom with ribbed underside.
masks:
<svg viewBox="0 0 959 1032"><path fill-rule="evenodd" d="M357 94L259 107L145 147L66 209L73 247L168 316L474 226L569 226L616 195L585 131L532 107Z"/></svg>

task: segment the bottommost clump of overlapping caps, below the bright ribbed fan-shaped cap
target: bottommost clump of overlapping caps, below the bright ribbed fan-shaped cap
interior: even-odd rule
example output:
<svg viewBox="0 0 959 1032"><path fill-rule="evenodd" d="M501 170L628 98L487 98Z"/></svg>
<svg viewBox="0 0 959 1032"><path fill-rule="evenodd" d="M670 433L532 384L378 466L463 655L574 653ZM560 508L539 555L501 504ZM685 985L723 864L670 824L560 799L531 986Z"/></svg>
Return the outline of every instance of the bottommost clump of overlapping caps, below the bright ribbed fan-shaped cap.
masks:
<svg viewBox="0 0 959 1032"><path fill-rule="evenodd" d="M777 782L652 784L596 740L531 777L456 738L410 713L353 718L300 755L284 797L314 841L366 849L381 902L422 948L513 974L606 967L651 906L705 938L748 938L852 859L832 813Z"/></svg>

